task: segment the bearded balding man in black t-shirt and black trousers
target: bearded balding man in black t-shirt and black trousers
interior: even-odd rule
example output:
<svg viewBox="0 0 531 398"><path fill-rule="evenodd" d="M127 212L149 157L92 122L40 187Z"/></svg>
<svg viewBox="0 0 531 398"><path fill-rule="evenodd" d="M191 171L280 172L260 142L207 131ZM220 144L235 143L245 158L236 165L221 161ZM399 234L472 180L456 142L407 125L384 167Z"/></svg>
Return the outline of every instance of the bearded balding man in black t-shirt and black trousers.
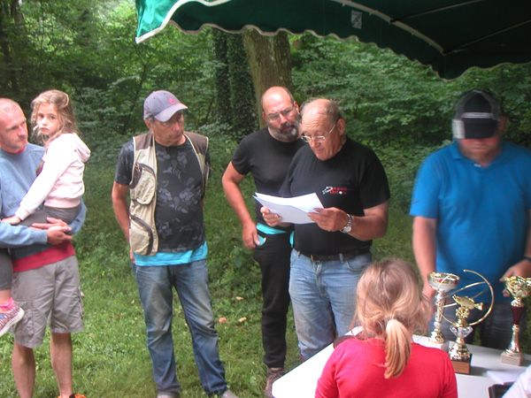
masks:
<svg viewBox="0 0 531 398"><path fill-rule="evenodd" d="M287 88L268 88L261 102L262 118L267 126L240 142L222 181L228 203L242 223L243 244L254 250L254 259L262 272L262 344L267 366L264 394L271 397L271 386L284 374L286 359L290 235L293 228L266 226L258 202L255 202L256 221L253 221L240 183L250 173L258 192L279 195L289 163L304 142L299 140L298 105Z"/></svg>

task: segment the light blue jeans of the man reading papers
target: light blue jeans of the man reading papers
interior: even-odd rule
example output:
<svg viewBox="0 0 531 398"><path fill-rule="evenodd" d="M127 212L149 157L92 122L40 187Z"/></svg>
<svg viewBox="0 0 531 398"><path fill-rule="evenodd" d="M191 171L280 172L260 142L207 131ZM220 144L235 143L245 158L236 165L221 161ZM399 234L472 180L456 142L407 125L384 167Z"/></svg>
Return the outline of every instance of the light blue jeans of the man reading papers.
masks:
<svg viewBox="0 0 531 398"><path fill-rule="evenodd" d="M303 359L350 331L358 280L371 260L371 253L353 260L312 261L296 249L291 252L289 295Z"/></svg>

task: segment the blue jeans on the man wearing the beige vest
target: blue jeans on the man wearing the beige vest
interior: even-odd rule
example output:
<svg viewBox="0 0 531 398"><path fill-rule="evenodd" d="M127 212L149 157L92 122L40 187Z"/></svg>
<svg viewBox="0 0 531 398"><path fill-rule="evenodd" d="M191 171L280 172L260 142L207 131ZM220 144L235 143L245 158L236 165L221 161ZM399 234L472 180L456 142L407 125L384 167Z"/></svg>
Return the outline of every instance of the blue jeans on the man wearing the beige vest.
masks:
<svg viewBox="0 0 531 398"><path fill-rule="evenodd" d="M173 289L192 336L199 379L207 394L227 389L225 369L219 360L218 333L214 328L212 299L204 260L189 264L136 266L135 279L147 326L153 379L158 394L176 395L181 385L175 375L172 314Z"/></svg>

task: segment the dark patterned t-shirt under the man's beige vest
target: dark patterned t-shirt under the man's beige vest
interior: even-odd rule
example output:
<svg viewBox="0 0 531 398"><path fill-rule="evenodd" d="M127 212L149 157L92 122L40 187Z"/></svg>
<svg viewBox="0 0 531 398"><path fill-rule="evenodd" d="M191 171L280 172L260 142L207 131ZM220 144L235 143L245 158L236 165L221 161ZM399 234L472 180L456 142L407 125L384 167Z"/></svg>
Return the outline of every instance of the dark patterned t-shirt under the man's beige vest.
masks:
<svg viewBox="0 0 531 398"><path fill-rule="evenodd" d="M187 139L175 147L155 142L157 151L157 206L155 224L158 251L175 253L197 249L205 241L202 175L196 153ZM133 141L121 149L114 180L129 185L135 154ZM207 161L209 154L207 153Z"/></svg>

